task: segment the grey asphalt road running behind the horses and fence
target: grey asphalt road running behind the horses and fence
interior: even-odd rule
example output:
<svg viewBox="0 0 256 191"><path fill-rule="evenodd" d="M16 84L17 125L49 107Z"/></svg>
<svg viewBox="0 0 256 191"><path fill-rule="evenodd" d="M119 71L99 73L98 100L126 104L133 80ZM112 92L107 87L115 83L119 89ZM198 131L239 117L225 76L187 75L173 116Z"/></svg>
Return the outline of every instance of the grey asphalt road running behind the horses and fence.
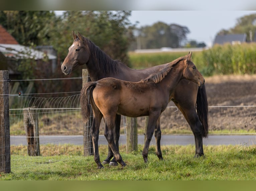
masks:
<svg viewBox="0 0 256 191"><path fill-rule="evenodd" d="M26 145L25 136L11 136L11 145ZM40 136L41 144L75 144L83 145L83 136ZM104 135L99 136L99 144L107 144ZM119 144L126 144L126 135L121 135ZM144 135L138 135L138 144L144 144ZM194 135L162 135L161 145L188 145L195 144ZM253 145L256 144L256 135L209 135L203 139L204 145ZM150 145L155 145L152 138Z"/></svg>

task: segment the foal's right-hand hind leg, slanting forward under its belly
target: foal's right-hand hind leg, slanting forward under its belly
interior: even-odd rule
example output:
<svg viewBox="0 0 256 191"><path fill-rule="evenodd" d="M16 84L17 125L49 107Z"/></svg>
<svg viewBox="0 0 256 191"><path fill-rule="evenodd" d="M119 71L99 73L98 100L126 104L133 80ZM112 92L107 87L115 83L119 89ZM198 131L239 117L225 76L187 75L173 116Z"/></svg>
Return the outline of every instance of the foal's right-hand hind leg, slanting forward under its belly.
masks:
<svg viewBox="0 0 256 191"><path fill-rule="evenodd" d="M116 159L117 162L119 162L122 167L126 166L125 162L123 161L118 147L115 144L114 141L114 124L115 124L115 115L114 116L108 116L105 117L105 130L104 130L104 135L108 141L108 144L114 154L114 157Z"/></svg>

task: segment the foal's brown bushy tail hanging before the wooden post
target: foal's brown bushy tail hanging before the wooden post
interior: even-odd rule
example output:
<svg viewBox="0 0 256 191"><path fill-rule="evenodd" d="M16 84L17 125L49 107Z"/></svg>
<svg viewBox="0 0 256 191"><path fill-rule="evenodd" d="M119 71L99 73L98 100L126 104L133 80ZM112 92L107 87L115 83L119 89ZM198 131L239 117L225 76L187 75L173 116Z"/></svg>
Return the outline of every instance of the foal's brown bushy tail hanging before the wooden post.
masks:
<svg viewBox="0 0 256 191"><path fill-rule="evenodd" d="M91 107L89 105L90 105L90 99L93 98L92 93L93 93L93 89L96 87L96 84L97 82L88 82L84 85L84 87L81 90L80 106L81 106L82 118L84 121L87 121L91 116Z"/></svg>

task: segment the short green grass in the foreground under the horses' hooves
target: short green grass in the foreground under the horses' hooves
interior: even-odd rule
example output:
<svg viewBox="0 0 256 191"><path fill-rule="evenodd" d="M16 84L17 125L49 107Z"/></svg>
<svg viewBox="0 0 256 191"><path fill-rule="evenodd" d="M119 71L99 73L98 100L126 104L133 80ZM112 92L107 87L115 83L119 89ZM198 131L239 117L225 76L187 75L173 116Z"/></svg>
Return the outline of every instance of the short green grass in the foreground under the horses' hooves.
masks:
<svg viewBox="0 0 256 191"><path fill-rule="evenodd" d="M47 145L47 148L52 145ZM68 145L66 145L68 146ZM30 157L12 148L11 173L1 173L0 180L255 180L256 146L204 146L205 156L194 158L194 145L162 146L164 160L159 161L155 147L149 149L149 161L143 162L142 145L138 151L120 153L127 166L97 169L93 156L81 156L82 146L69 146L59 151ZM20 149L16 148L15 149ZM44 149L43 146L41 149ZM60 150L61 150L60 149ZM107 155L107 146L100 146L100 157Z"/></svg>

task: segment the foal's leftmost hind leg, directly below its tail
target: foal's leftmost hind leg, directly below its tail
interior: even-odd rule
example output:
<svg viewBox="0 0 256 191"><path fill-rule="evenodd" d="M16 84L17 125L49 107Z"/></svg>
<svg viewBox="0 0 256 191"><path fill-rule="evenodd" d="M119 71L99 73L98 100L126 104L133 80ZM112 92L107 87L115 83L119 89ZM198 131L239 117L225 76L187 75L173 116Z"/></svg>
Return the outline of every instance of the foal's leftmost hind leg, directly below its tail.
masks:
<svg viewBox="0 0 256 191"><path fill-rule="evenodd" d="M91 135L92 135L92 142L93 142L93 150L94 150L94 161L96 162L98 169L104 168L100 162L100 154L99 154L99 128L102 119L102 113L99 111L98 114L93 114L93 123L91 127Z"/></svg>

